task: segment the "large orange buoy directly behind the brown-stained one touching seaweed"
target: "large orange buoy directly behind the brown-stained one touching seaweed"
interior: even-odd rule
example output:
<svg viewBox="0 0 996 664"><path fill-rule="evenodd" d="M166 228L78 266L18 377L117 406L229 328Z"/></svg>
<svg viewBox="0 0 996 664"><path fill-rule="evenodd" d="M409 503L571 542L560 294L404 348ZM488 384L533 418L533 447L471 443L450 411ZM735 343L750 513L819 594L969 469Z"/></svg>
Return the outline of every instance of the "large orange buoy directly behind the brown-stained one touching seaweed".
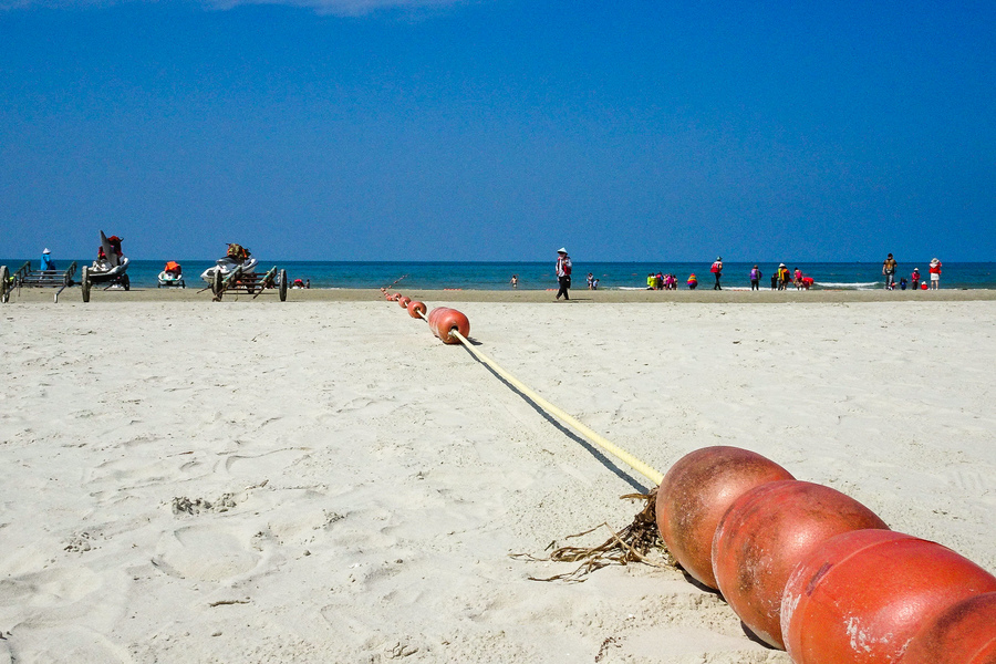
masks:
<svg viewBox="0 0 996 664"><path fill-rule="evenodd" d="M867 528L889 527L830 487L793 479L754 487L716 528L713 573L719 592L751 632L784 649L781 593L789 575L820 542Z"/></svg>

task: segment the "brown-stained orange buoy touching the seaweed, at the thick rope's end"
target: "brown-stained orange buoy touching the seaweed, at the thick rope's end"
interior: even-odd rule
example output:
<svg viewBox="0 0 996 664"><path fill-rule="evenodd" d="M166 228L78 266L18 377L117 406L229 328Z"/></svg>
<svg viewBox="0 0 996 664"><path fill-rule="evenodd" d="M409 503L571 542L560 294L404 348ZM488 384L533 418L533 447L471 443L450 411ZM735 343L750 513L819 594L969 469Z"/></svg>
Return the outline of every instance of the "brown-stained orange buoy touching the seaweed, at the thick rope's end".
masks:
<svg viewBox="0 0 996 664"><path fill-rule="evenodd" d="M739 447L704 447L686 454L657 487L657 528L667 550L685 571L709 588L713 536L719 519L748 489L791 474L759 454Z"/></svg>

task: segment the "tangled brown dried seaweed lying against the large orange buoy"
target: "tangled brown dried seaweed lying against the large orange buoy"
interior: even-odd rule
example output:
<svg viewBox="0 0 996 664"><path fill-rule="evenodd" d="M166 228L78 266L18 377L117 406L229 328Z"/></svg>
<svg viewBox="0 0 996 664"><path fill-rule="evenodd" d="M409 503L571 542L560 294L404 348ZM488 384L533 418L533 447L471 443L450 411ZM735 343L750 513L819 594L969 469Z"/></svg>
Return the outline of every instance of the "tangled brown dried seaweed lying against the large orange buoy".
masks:
<svg viewBox="0 0 996 664"><path fill-rule="evenodd" d="M664 541L661 539L661 533L657 530L657 519L654 511L656 497L656 488L654 488L650 494L627 494L625 496L621 496L620 498L623 500L643 500L644 506L643 509L633 518L633 522L619 532L612 530L609 523L603 522L599 526L595 526L594 528L585 530L584 532L569 535L566 538L571 539L575 537L583 537L590 532L594 532L599 528L604 527L612 533L612 537L596 547L560 547L554 549L550 553L549 558L536 558L535 556L531 556L529 553L513 553L511 554L511 558L515 558L516 560L535 560L540 562L580 561L581 566L572 572L556 574L546 579L529 577L531 581L566 581L568 583L581 583L582 581L584 581L588 574L610 564L629 564L631 562L642 562L658 568L673 567L673 559L671 558L671 554L667 553L667 549L664 547ZM547 550L554 547L556 544L556 541L550 542L550 546L547 547ZM662 564L660 562L650 560L647 556L651 553L651 551L661 551L662 553L664 553L666 563Z"/></svg>

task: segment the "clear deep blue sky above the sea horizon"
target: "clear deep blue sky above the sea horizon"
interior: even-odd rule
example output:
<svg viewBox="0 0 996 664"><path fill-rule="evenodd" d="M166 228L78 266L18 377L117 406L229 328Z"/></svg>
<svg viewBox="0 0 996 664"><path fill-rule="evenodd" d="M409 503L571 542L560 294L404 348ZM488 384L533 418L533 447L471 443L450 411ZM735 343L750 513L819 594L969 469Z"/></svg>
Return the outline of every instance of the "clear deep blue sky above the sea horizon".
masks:
<svg viewBox="0 0 996 664"><path fill-rule="evenodd" d="M0 0L0 256L996 260L996 4Z"/></svg>

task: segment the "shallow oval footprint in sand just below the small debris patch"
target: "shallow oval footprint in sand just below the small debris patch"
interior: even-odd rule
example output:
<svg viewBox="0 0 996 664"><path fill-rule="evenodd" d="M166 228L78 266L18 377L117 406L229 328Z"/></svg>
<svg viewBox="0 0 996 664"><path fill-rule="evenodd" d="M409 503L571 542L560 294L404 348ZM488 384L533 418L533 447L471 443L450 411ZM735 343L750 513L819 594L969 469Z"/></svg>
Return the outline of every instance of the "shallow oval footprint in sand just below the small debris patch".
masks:
<svg viewBox="0 0 996 664"><path fill-rule="evenodd" d="M226 581L248 574L260 564L249 538L218 526L190 526L167 532L156 547L154 566L172 577Z"/></svg>

